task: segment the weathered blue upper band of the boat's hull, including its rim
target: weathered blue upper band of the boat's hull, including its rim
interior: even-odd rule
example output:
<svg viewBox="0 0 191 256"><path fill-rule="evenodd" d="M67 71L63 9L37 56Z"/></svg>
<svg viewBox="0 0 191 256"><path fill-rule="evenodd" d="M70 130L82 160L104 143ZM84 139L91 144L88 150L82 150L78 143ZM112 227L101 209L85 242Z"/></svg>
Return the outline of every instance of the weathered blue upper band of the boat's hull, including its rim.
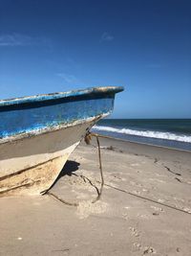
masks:
<svg viewBox="0 0 191 256"><path fill-rule="evenodd" d="M9 136L70 125L113 110L121 87L101 87L0 101L0 141Z"/></svg>

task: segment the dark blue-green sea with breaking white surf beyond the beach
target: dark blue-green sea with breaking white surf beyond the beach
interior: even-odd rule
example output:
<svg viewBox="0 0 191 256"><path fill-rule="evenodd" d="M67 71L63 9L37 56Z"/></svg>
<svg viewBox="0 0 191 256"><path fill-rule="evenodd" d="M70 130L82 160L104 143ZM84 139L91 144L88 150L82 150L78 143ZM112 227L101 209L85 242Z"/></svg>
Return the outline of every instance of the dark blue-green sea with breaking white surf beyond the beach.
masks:
<svg viewBox="0 0 191 256"><path fill-rule="evenodd" d="M191 151L191 119L102 119L92 130L122 140Z"/></svg>

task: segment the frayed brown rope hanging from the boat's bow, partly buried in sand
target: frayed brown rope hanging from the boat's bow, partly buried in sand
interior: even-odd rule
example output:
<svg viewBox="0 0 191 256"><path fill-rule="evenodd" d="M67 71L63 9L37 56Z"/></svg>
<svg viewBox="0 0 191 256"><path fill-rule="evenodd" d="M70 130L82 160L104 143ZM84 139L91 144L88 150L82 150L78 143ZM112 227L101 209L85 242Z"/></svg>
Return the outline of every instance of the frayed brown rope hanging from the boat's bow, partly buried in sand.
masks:
<svg viewBox="0 0 191 256"><path fill-rule="evenodd" d="M100 171L100 177L101 177L101 181L100 181L100 189L96 189L97 192L97 197L92 201L92 203L95 203L97 200L99 200L101 198L102 192L103 192L103 186L104 186L104 177L103 177L103 170L102 170L102 163L101 163L101 150L100 150L100 143L99 143L99 139L98 137L103 137L102 135L99 135L97 133L92 133L92 132L88 132L86 134L86 136L84 137L84 140L86 142L87 145L91 144L91 140L92 140L92 136L96 137L96 143L97 143L97 150L98 150L98 162L99 162L99 171ZM57 197L56 195L54 195L52 192L47 191L48 195L50 195L51 197L61 201L64 204L70 205L70 206L78 206L79 202L69 202L66 201L62 198Z"/></svg>

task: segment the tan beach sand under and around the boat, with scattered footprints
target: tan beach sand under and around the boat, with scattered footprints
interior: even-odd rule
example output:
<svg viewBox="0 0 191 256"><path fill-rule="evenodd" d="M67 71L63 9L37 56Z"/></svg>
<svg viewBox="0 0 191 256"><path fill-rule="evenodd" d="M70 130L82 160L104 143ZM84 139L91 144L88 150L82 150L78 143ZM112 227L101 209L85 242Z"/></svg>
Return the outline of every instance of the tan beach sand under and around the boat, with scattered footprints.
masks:
<svg viewBox="0 0 191 256"><path fill-rule="evenodd" d="M50 194L0 198L0 255L191 255L191 152L95 139ZM71 206L53 197L61 198Z"/></svg>

